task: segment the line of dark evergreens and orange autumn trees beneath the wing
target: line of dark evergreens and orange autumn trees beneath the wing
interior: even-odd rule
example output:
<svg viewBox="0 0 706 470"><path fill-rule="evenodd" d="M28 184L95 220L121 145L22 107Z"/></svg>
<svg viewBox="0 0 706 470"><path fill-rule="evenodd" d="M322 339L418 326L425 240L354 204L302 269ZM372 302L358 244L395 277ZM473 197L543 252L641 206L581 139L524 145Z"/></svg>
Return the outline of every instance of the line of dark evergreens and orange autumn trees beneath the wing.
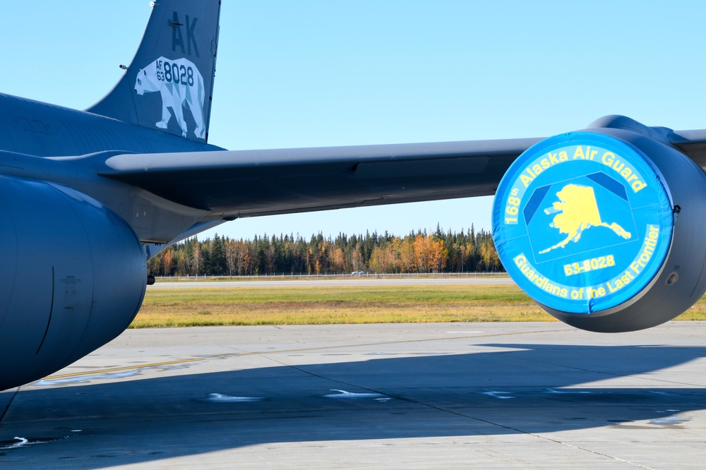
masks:
<svg viewBox="0 0 706 470"><path fill-rule="evenodd" d="M459 233L437 226L404 237L385 231L331 239L319 233L309 240L299 234L252 240L216 234L169 246L148 268L154 276L503 271L490 232L473 226Z"/></svg>

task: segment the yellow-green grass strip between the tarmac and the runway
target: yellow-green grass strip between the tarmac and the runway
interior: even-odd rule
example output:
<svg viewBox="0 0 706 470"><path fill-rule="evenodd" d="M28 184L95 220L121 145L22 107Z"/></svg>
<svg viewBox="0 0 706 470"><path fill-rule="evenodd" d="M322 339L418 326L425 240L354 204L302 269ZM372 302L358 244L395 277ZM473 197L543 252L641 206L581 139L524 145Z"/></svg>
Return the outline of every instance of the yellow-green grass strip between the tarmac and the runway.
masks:
<svg viewBox="0 0 706 470"><path fill-rule="evenodd" d="M706 320L701 299L677 320ZM154 289L131 328L556 321L515 286Z"/></svg>

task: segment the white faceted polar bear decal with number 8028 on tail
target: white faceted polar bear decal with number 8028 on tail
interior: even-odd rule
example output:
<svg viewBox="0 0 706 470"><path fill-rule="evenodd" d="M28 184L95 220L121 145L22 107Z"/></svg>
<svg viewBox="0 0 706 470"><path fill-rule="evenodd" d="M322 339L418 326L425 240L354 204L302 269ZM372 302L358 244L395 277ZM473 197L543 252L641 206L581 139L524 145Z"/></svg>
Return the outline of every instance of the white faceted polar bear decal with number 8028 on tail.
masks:
<svg viewBox="0 0 706 470"><path fill-rule="evenodd" d="M152 64L137 73L135 91L142 96L149 92L160 92L162 95L162 121L155 123L160 129L166 129L169 119L169 109L172 108L174 117L181 128L181 136L186 137L189 129L186 128L184 114L181 107L189 105L196 128L193 133L197 138L205 139L205 124L203 119L203 77L193 62L187 59L165 59L160 57Z"/></svg>

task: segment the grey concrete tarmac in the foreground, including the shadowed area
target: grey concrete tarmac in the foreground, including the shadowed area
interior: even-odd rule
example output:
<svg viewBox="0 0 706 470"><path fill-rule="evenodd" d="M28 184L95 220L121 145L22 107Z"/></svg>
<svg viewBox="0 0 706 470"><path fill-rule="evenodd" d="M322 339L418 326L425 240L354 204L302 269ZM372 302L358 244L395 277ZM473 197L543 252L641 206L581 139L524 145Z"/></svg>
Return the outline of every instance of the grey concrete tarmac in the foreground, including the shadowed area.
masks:
<svg viewBox="0 0 706 470"><path fill-rule="evenodd" d="M128 330L0 394L0 467L684 469L706 323Z"/></svg>

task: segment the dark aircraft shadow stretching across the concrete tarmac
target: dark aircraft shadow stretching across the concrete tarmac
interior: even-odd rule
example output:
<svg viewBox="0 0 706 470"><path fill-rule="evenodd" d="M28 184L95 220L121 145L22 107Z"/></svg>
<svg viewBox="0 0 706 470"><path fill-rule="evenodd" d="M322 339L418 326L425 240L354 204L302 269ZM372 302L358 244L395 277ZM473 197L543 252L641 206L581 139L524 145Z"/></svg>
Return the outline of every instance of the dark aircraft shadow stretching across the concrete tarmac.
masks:
<svg viewBox="0 0 706 470"><path fill-rule="evenodd" d="M22 390L0 425L0 463L101 468L268 442L658 428L706 404L688 366L702 347L469 348ZM13 447L16 437L54 442Z"/></svg>

